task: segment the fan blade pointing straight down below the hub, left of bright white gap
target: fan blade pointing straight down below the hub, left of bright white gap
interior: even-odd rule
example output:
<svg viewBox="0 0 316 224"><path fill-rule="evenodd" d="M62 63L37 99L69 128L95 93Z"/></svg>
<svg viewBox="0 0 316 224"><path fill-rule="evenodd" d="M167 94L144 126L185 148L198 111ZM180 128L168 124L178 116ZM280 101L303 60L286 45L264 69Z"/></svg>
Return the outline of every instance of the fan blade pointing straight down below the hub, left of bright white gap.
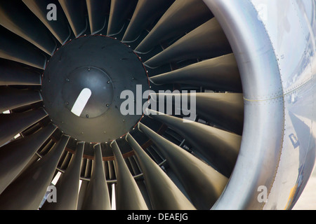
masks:
<svg viewBox="0 0 316 224"><path fill-rule="evenodd" d="M103 167L101 145L94 146L93 170L84 195L83 210L111 210L111 202Z"/></svg>

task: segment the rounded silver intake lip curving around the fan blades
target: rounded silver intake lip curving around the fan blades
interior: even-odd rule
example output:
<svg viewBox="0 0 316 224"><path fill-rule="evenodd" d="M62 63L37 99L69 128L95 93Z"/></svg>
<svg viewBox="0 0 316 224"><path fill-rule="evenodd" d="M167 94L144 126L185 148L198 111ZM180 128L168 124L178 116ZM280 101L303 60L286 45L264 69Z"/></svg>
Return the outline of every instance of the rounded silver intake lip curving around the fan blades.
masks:
<svg viewBox="0 0 316 224"><path fill-rule="evenodd" d="M251 1L204 2L230 41L244 89L242 145L230 181L212 209L263 209L258 189L264 186L270 193L284 135L284 97L275 50Z"/></svg>

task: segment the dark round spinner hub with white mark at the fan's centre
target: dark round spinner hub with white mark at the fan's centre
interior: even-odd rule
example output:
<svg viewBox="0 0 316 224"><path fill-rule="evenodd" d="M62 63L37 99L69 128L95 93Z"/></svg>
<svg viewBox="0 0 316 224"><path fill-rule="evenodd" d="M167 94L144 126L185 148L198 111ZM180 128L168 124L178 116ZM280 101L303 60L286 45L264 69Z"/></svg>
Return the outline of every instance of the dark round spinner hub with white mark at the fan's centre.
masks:
<svg viewBox="0 0 316 224"><path fill-rule="evenodd" d="M137 85L140 91L149 89L144 66L131 48L93 35L76 38L55 52L44 71L41 94L51 120L63 132L98 143L117 139L138 123L142 114L124 116L120 111L126 101L121 92L131 90L136 96ZM74 106L86 89L91 97L76 115Z"/></svg>

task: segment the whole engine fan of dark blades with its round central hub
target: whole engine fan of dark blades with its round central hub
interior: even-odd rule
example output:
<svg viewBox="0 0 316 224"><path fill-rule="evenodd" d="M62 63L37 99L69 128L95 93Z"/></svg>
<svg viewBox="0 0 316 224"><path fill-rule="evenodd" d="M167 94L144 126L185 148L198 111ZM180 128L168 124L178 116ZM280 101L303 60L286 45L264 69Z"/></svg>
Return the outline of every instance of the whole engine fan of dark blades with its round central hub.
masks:
<svg viewBox="0 0 316 224"><path fill-rule="evenodd" d="M1 1L0 209L223 208L259 81L215 2Z"/></svg>

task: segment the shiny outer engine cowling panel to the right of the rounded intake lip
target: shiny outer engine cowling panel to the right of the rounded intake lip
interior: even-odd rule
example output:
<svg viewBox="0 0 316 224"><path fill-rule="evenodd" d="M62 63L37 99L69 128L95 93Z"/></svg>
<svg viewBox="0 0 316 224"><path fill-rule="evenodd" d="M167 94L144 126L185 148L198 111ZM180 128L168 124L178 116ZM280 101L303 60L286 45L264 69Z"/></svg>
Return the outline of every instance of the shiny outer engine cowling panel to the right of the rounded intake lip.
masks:
<svg viewBox="0 0 316 224"><path fill-rule="evenodd" d="M252 3L263 16L275 48L284 89L282 155L263 209L292 209L315 167L316 3L312 0L273 3L252 0ZM294 38L293 34L299 35Z"/></svg>

